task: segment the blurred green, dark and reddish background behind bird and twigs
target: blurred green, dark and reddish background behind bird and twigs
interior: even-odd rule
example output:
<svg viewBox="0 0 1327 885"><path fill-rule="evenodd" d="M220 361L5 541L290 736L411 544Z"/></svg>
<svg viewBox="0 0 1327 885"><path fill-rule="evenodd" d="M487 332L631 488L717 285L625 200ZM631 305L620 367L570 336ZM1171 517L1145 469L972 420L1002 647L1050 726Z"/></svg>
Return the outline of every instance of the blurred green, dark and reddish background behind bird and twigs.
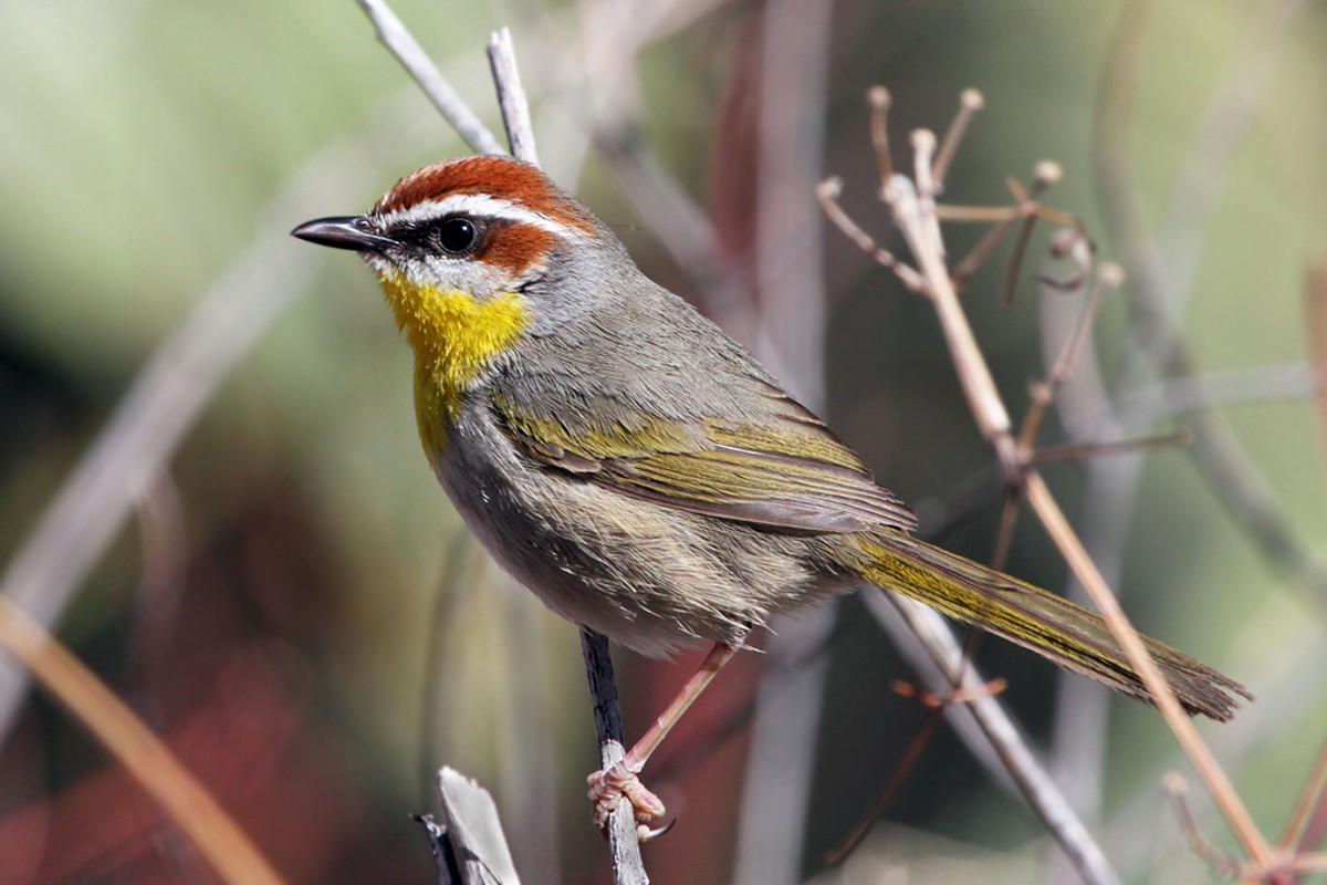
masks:
<svg viewBox="0 0 1327 885"><path fill-rule="evenodd" d="M1093 186L1111 135L1095 127L1097 97L1127 5L833 4L817 174L841 175L848 208L901 248L872 198L864 92L890 88L904 162L905 133L942 129L958 92L977 86L987 110L946 200L1007 202L1006 174L1027 180L1036 161L1055 159L1064 182L1048 202L1084 220L1103 257L1127 257ZM1194 131L1273 8L1152 5L1137 44L1136 106L1128 130L1113 133L1133 165L1148 231L1162 227ZM1198 226L1180 320L1201 372L1223 379L1218 390L1269 366L1303 365L1304 268L1327 260L1327 11L1275 5L1294 17L1263 52L1270 76L1247 127L1222 134L1233 155ZM661 247L612 165L587 146L585 127L620 114L715 219L714 247L750 279L743 249L759 186L748 171L759 150L752 41L771 8L713 0L622 16L614 3L397 4L499 131L482 49L490 31L514 27L551 174L618 230L648 272L683 293L694 273ZM634 57L629 41L602 36L633 16L642 32L654 28ZM613 58L622 45L625 58ZM614 90L632 97L602 106ZM466 151L349 0L5 3L0 121L5 559L154 350L239 256L272 248L264 224L288 230L362 211L398 176ZM825 248L831 423L884 484L930 508L924 513L953 516L955 490L991 456L930 308L828 230L809 191L800 212L804 236ZM999 304L1007 248L966 296L1015 414L1027 382L1044 372L1034 276L1047 230L1034 236L1011 308ZM978 235L955 230L953 251ZM414 434L409 356L369 275L349 256L296 240L279 248L299 251L293 260L316 283L283 293L299 297L203 411L151 495L157 516L118 535L60 637L200 772L291 881L430 881L407 815L433 808L427 771L442 763L492 788L510 829L514 819L540 821L539 832L522 828L514 839L527 881L606 881L606 852L584 823L581 779L594 756L575 629L472 549L435 488ZM1121 358L1127 300L1113 297L1096 330L1107 374ZM1220 414L1298 541L1322 556L1324 443L1312 401L1302 383L1259 390ZM1174 426L1162 419L1151 430ZM1052 425L1048 441L1059 433ZM1071 516L1092 506L1080 467L1048 475ZM990 553L998 512L989 480L974 513L942 537L977 557ZM1217 502L1185 452L1151 455L1128 515L1121 592L1141 629L1259 697L1235 724L1202 728L1274 835L1327 731L1323 588L1306 589L1259 556ZM1064 581L1031 517L1020 521L1011 568L1051 588ZM885 881L892 864L913 881L973 881L974 869L983 881L1043 876L1044 832L945 728L878 839L845 870L823 872L820 854L869 805L921 718L888 690L910 673L860 604L848 601L837 617L799 877ZM1054 673L997 646L982 646L986 669L1009 675L1009 705L1035 740L1050 740ZM690 665L618 655L629 734ZM665 799L682 816L646 852L658 881L734 874L742 711L760 662L742 666L695 713L702 723L730 723L731 734L689 743L682 735L674 756L661 756L677 784ZM1100 832L1125 877L1201 880L1157 787L1166 767L1184 770L1160 719L1112 702L1105 754ZM117 816L121 803L138 812ZM1234 851L1208 803L1194 803L1218 845ZM107 816L138 824L119 829ZM60 709L40 691L25 703L0 755L0 854L15 870L7 881L211 881L171 833Z"/></svg>

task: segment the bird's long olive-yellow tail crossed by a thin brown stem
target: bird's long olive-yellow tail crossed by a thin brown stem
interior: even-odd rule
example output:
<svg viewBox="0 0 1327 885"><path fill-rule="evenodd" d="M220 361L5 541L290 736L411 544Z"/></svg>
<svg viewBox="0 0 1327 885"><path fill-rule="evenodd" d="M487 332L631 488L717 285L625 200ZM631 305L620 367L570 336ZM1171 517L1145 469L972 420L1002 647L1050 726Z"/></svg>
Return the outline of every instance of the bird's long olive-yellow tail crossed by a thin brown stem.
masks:
<svg viewBox="0 0 1327 885"><path fill-rule="evenodd" d="M864 547L867 561L859 568L871 582L1151 702L1152 695L1095 612L902 532L880 532ZM1156 640L1143 641L1190 714L1226 722L1238 698L1253 699L1242 685L1212 667Z"/></svg>

